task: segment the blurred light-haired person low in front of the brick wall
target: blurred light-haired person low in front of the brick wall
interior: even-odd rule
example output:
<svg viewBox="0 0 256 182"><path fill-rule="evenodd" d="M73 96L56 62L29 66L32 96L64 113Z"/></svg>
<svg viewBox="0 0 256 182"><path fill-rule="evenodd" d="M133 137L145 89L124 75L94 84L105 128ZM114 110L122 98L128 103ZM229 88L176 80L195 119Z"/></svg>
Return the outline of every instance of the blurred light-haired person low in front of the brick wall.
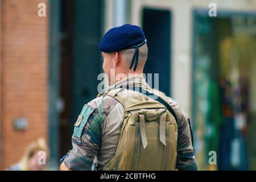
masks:
<svg viewBox="0 0 256 182"><path fill-rule="evenodd" d="M7 168L7 171L43 171L46 168L48 154L46 140L39 138L26 148L22 159Z"/></svg>

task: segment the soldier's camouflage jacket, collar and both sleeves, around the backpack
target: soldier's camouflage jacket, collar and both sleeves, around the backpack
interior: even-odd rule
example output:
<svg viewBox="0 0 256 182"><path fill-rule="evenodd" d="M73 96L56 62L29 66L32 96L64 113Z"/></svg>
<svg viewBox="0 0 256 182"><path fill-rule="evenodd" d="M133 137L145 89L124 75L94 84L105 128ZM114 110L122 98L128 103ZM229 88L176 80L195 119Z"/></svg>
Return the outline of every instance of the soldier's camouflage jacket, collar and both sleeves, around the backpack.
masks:
<svg viewBox="0 0 256 182"><path fill-rule="evenodd" d="M110 86L109 90L127 85L141 86L148 92L152 92L144 77L141 76L118 81ZM140 94L140 97L147 97L144 94L135 93ZM177 117L176 168L195 170L197 162L193 151L189 119L179 104L170 97L168 97L168 104L171 105ZM73 149L64 157L65 165L73 170L90 170L94 163L97 169L102 169L115 155L124 114L123 106L109 96L95 98L84 105L81 115L85 117L86 121L84 123L79 121L80 130L75 126L72 136Z"/></svg>

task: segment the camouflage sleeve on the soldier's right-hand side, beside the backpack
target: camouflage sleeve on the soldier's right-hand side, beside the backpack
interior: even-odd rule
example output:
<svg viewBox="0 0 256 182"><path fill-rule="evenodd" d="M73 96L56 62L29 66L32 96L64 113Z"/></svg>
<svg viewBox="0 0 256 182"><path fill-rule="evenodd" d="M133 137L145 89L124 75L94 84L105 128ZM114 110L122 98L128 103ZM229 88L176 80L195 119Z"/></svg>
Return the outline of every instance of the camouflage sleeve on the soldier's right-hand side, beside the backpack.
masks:
<svg viewBox="0 0 256 182"><path fill-rule="evenodd" d="M179 170L197 170L197 161L193 148L193 133L189 118L185 115L180 105L168 97L168 102L177 117L177 162Z"/></svg>

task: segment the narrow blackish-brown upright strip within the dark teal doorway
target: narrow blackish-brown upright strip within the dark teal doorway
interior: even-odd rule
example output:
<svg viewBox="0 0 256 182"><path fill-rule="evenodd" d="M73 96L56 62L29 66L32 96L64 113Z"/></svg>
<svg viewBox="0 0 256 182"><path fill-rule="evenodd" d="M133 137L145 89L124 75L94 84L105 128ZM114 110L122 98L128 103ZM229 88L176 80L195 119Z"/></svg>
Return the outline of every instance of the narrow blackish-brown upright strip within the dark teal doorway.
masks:
<svg viewBox="0 0 256 182"><path fill-rule="evenodd" d="M60 89L57 107L59 111L59 156L71 148L72 80L73 80L73 2L61 1L60 9Z"/></svg>

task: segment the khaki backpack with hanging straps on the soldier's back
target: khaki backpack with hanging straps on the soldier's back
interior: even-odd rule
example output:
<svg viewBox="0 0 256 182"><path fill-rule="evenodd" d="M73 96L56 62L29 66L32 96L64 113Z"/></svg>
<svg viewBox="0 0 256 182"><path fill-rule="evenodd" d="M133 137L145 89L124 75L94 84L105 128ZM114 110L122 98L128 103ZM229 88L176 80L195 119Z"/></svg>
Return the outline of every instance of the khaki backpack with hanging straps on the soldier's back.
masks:
<svg viewBox="0 0 256 182"><path fill-rule="evenodd" d="M167 102L164 93L153 91ZM122 104L125 118L117 151L103 170L175 170L177 124L167 107L123 88L105 95Z"/></svg>

